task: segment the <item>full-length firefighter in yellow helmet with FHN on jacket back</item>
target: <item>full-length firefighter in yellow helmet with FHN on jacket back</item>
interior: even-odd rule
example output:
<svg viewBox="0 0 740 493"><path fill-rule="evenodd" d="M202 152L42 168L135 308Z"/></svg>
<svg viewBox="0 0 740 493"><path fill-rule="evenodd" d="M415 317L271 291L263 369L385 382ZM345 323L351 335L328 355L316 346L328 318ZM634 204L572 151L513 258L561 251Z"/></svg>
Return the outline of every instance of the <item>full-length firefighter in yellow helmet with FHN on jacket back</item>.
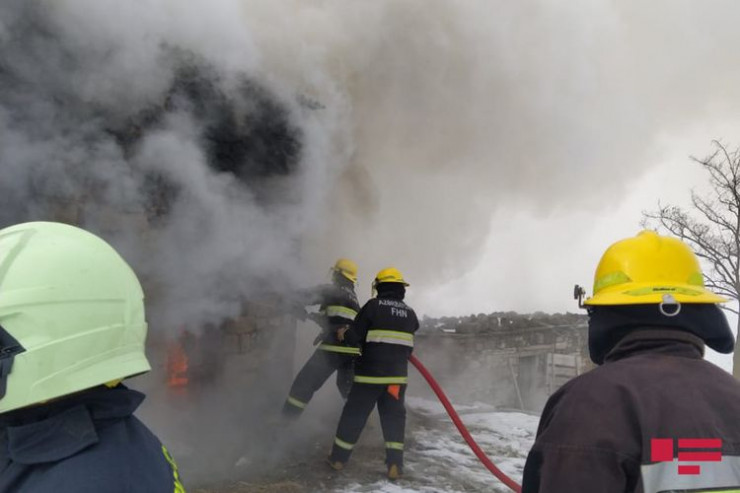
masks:
<svg viewBox="0 0 740 493"><path fill-rule="evenodd" d="M360 345L362 355L355 364L354 385L328 459L335 470L344 468L377 404L388 478L397 479L403 472L408 359L414 347L414 332L419 328L416 313L403 301L406 286L408 283L398 269L381 270L373 281L377 296L362 307L346 335L349 341Z"/></svg>

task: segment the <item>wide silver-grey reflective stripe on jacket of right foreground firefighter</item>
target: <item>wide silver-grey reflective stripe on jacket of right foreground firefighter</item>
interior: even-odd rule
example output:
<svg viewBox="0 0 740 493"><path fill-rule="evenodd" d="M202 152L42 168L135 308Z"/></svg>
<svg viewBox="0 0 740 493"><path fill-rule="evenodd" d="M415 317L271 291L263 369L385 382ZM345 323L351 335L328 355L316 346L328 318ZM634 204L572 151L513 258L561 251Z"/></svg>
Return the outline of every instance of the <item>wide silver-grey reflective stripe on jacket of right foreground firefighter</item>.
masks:
<svg viewBox="0 0 740 493"><path fill-rule="evenodd" d="M686 462L683 461L682 465ZM678 460L641 467L645 493L690 491L696 493L740 492L740 457L723 456L719 462L702 462L700 474L679 474Z"/></svg>

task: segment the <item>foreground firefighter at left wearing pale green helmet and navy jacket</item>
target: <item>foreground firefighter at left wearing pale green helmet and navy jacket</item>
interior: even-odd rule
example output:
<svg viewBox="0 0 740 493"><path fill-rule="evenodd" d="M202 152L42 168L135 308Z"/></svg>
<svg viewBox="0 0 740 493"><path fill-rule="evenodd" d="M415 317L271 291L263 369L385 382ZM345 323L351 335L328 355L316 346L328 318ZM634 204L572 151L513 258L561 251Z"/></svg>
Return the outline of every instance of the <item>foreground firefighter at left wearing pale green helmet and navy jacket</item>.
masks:
<svg viewBox="0 0 740 493"><path fill-rule="evenodd" d="M136 275L82 229L0 230L0 491L183 493L121 382L150 370Z"/></svg>

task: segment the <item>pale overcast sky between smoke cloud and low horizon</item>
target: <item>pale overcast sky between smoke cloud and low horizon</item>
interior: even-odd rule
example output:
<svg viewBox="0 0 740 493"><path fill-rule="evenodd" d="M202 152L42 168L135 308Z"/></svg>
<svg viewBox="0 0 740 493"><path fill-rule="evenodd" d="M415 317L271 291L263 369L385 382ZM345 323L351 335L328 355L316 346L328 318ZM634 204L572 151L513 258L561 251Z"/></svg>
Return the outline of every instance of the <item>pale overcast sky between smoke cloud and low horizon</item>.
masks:
<svg viewBox="0 0 740 493"><path fill-rule="evenodd" d="M710 140L738 142L736 122L705 121L683 135L666 135L645 173L613 207L572 213L534 215L516 208L497 213L479 263L458 280L424 287L409 299L430 316L492 311L579 312L572 298L578 283L592 293L593 273L603 251L614 241L640 231L641 212L664 203L688 205L690 191L707 189L708 175L689 159L704 156ZM594 186L598 186L594 183ZM411 303L412 301L410 301ZM737 318L728 314L735 329ZM707 358L727 369L731 355L707 349Z"/></svg>

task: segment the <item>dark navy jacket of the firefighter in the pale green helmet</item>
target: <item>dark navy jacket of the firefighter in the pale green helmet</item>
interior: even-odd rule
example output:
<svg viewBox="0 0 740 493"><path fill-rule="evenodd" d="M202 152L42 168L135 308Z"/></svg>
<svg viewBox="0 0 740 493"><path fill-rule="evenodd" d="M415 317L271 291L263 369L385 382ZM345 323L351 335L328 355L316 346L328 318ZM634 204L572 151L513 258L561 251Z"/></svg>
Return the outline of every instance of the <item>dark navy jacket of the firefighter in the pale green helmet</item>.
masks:
<svg viewBox="0 0 740 493"><path fill-rule="evenodd" d="M142 400L99 387L0 415L0 491L184 493L169 452L132 415Z"/></svg>

